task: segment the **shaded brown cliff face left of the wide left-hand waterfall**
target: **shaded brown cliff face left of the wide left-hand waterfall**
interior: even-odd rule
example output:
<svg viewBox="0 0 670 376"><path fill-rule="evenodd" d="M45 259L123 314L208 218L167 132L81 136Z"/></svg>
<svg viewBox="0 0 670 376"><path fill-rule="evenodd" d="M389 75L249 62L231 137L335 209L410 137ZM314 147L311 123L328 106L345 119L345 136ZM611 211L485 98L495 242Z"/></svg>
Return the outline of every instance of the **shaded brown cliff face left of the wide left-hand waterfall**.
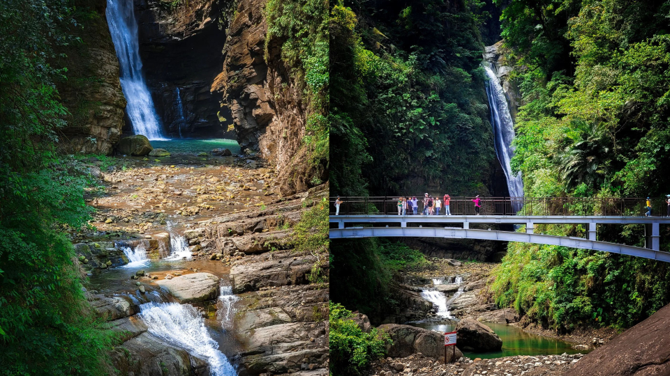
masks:
<svg viewBox="0 0 670 376"><path fill-rule="evenodd" d="M105 19L107 1L77 1L94 17L83 20L78 31L83 43L65 48L68 80L58 84L70 111L59 147L68 152L108 155L124 126L126 99L119 82L119 61Z"/></svg>

